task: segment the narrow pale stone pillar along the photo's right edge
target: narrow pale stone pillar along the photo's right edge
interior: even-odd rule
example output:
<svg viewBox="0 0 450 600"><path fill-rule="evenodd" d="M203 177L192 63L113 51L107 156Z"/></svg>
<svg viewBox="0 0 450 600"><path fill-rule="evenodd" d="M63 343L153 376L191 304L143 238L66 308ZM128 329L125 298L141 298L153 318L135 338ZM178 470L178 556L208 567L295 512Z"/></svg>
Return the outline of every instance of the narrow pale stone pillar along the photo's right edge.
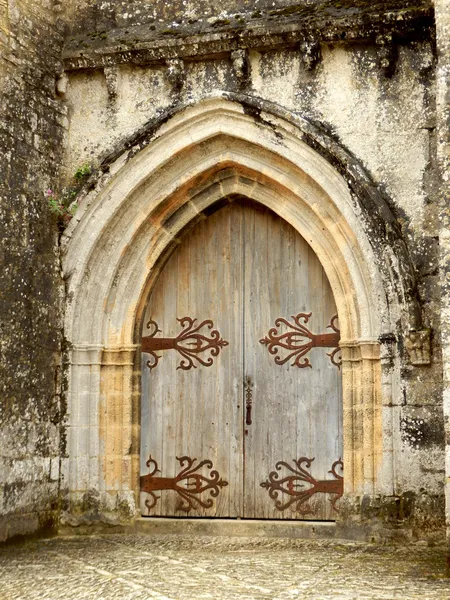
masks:
<svg viewBox="0 0 450 600"><path fill-rule="evenodd" d="M446 521L450 565L450 2L435 0L436 15L436 129L440 201L441 330L446 430Z"/></svg>

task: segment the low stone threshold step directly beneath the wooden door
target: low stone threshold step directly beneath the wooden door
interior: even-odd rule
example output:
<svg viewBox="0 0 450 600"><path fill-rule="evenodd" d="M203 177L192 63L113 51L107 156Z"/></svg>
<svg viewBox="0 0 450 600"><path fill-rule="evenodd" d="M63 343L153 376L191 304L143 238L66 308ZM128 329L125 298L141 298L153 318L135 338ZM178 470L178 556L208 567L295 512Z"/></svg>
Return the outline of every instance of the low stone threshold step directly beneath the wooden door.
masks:
<svg viewBox="0 0 450 600"><path fill-rule="evenodd" d="M189 519L140 517L136 533L264 538L333 539L334 521L269 521L253 519Z"/></svg>

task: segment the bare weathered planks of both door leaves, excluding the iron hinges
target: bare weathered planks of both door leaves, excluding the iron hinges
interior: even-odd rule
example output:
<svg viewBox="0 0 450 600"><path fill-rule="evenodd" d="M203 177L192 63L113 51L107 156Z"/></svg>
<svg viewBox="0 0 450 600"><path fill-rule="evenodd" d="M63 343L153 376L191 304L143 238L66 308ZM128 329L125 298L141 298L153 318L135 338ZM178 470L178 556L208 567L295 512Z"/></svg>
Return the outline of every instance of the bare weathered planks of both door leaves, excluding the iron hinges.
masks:
<svg viewBox="0 0 450 600"><path fill-rule="evenodd" d="M158 337L176 337L177 318L212 319L229 342L210 367L177 369L176 350L159 351L156 368L143 353L141 475L151 454L157 476L174 477L176 457L209 459L228 482L210 508L189 516L333 519L329 498L313 497L314 513L279 511L261 487L277 461L315 458L316 479L332 478L342 453L341 382L326 348L310 353L312 368L277 365L260 344L275 319L312 312L308 325L324 332L335 314L333 295L319 260L303 238L271 211L235 202L197 225L175 250L149 299L146 322ZM144 329L143 335L148 335ZM292 361L291 361L292 362ZM252 424L245 423L245 390L251 387ZM202 471L208 474L208 469ZM173 490L142 514L181 516ZM202 500L210 498L208 492Z"/></svg>

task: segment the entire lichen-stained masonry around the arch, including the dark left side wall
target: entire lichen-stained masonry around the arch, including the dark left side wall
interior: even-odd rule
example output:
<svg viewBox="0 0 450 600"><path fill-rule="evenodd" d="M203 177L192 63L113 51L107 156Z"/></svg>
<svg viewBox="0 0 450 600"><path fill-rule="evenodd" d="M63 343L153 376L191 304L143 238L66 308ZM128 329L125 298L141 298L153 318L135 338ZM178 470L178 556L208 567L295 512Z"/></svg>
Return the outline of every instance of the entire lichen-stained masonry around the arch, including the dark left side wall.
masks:
<svg viewBox="0 0 450 600"><path fill-rule="evenodd" d="M389 378L391 386L383 445L393 456L393 480L381 482L385 493L377 497L349 501L342 514L348 523L356 514L367 524L400 522L418 535L442 526L442 316L442 339L450 335L438 274L440 234L446 280L447 221L439 228L448 203L448 177L439 180L448 170L445 7L437 3L436 90L427 0L84 0L64 7L0 0L0 539L54 522L60 459L68 452L58 230L44 192L58 194L81 165L109 168L108 156L119 156L165 111L224 91L317 124L365 168L394 214L415 275L408 294L419 311L408 323L431 329L431 364L412 364L405 298L392 336L382 340L391 348L383 359L383 385ZM64 43L60 10L68 23ZM62 50L66 74L56 93ZM374 245L383 243L374 236ZM74 440L76 448L83 443ZM82 511L98 500L94 484L81 494Z"/></svg>

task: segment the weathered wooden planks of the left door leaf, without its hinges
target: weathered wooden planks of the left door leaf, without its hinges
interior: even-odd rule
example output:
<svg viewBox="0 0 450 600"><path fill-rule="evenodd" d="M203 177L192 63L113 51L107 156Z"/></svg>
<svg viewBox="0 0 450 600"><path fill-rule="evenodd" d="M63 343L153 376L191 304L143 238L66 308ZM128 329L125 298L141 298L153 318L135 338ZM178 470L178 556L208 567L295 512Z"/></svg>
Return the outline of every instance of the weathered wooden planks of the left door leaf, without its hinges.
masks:
<svg viewBox="0 0 450 600"><path fill-rule="evenodd" d="M179 369L183 357L171 349L158 352L161 358L155 369L143 370L141 474L148 472L144 458L149 453L157 460L161 477L176 476L182 468L177 457L189 456L197 459L194 467L211 460L212 468L228 482L217 497L208 491L199 497L203 502L212 499L211 507L194 502L188 516L242 513L240 228L240 215L229 207L190 232L163 268L146 315L162 330L158 337L176 337L182 329L177 318L188 316L197 319L196 325L211 319L214 329L229 342L209 367L194 361L196 368ZM205 326L201 333L210 330ZM210 469L199 472L209 476ZM186 515L180 510L176 491L156 494L160 498L151 515ZM143 493L144 515L148 514L146 499L148 495Z"/></svg>

